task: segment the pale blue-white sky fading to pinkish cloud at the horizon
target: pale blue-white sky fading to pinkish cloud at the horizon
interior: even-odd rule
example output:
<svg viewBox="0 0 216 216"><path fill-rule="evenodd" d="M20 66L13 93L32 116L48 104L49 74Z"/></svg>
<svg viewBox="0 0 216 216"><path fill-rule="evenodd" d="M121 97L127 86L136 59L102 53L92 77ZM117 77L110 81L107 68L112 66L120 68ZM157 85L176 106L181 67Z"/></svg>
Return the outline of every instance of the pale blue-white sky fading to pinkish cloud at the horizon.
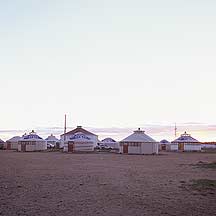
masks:
<svg viewBox="0 0 216 216"><path fill-rule="evenodd" d="M101 137L141 127L172 139L176 123L216 140L215 11L214 0L1 1L0 138L59 135L67 114Z"/></svg>

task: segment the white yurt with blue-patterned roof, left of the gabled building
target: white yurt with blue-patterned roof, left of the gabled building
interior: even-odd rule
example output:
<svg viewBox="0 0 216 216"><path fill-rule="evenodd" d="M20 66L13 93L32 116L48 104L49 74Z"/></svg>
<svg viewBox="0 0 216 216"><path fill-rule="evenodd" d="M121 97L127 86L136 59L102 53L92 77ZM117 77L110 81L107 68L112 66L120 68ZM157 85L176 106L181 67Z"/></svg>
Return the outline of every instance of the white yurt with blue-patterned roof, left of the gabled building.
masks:
<svg viewBox="0 0 216 216"><path fill-rule="evenodd" d="M47 142L33 130L28 135L24 134L18 141L18 151L43 151L47 149Z"/></svg>

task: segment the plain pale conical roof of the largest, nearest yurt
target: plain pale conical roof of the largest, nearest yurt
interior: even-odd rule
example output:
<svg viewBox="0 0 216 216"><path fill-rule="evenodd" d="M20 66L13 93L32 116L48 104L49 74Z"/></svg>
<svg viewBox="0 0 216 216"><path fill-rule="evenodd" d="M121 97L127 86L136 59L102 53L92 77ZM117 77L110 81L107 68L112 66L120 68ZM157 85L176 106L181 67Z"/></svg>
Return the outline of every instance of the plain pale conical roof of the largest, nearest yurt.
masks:
<svg viewBox="0 0 216 216"><path fill-rule="evenodd" d="M138 130L134 131L133 134L123 139L121 142L156 142L154 139L152 139L150 136L145 134L145 131Z"/></svg>

